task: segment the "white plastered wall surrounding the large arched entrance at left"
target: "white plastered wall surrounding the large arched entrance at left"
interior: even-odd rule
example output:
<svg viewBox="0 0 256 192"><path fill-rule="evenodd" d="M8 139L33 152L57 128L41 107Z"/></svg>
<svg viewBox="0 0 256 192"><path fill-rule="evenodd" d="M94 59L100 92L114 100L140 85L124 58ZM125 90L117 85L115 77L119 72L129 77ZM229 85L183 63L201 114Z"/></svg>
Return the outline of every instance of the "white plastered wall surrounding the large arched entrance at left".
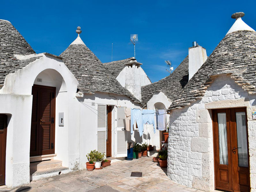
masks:
<svg viewBox="0 0 256 192"><path fill-rule="evenodd" d="M42 56L40 59L7 75L5 84L0 90L0 113L9 114L5 179L8 187L28 183L30 179L29 153L33 97L31 91L34 83L56 87L55 153L58 153L56 158L63 161L63 166L69 167L70 170L75 164L74 156L78 156L79 163L79 121L77 121L79 110L76 108L79 103L75 97L78 82L60 59L40 55ZM42 83L36 82L36 78L42 78ZM64 127L58 126L59 112L64 112Z"/></svg>

